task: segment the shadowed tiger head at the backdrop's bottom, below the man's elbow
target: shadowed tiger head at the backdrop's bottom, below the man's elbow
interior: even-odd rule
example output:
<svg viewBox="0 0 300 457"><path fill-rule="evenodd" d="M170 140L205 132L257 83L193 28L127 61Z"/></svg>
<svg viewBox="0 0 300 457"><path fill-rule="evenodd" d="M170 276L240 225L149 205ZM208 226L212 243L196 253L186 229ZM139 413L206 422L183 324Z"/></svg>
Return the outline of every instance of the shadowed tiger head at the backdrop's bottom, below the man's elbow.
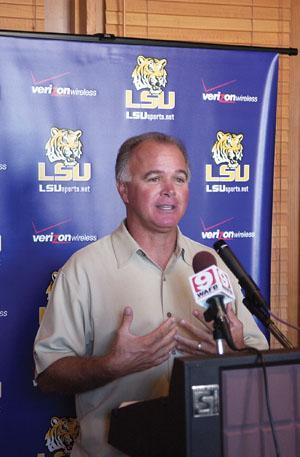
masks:
<svg viewBox="0 0 300 457"><path fill-rule="evenodd" d="M71 450L79 435L77 419L72 417L52 417L51 426L45 435L46 446L50 452L60 457L69 457Z"/></svg>

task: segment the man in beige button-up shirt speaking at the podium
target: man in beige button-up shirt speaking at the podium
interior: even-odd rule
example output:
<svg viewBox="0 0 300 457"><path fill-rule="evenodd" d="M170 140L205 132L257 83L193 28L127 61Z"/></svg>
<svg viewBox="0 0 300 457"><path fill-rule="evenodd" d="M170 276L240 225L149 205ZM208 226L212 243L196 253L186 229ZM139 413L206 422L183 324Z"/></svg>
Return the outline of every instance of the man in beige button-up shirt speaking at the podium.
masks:
<svg viewBox="0 0 300 457"><path fill-rule="evenodd" d="M211 250L178 229L189 176L176 139L146 133L127 140L116 161L126 220L75 253L56 278L34 353L43 390L76 394L80 435L72 457L122 455L107 443L110 411L123 401L167 395L174 356L216 351L188 284L194 255ZM237 297L228 309L235 344L266 349L229 275Z"/></svg>

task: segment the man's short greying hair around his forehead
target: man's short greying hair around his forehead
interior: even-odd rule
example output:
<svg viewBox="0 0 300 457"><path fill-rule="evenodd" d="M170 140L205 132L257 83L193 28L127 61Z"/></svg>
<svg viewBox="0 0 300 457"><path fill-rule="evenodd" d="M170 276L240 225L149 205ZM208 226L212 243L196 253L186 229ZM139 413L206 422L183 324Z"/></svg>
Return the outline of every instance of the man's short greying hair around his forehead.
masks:
<svg viewBox="0 0 300 457"><path fill-rule="evenodd" d="M164 144L173 144L178 147L178 149L182 152L184 157L185 163L187 165L187 172L188 178L190 178L190 166L189 166L189 158L186 151L185 146L183 143L178 139L171 135L166 135L165 133L161 132L147 132L142 133L141 135L133 136L128 138L124 143L121 145L115 165L115 176L116 181L128 181L129 177L124 176L126 172L128 172L127 165L129 159L132 155L134 149L139 146L140 144L144 143L145 141L155 141L157 143L164 143Z"/></svg>

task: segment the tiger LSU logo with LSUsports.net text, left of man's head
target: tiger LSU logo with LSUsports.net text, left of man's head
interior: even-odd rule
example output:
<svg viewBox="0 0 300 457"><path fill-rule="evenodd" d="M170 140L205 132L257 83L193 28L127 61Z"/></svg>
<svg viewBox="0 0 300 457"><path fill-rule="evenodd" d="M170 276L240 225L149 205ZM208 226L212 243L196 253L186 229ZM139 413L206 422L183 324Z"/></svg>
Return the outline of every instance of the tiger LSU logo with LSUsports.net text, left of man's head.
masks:
<svg viewBox="0 0 300 457"><path fill-rule="evenodd" d="M46 167L45 162L38 163L38 180L41 182L86 182L91 179L91 164L79 160L82 156L81 130L51 128L50 138L46 142L46 157L53 167ZM57 187L57 188L56 188ZM63 186L48 184L39 185L40 192L66 192ZM84 188L70 187L68 192L89 192L89 186Z"/></svg>

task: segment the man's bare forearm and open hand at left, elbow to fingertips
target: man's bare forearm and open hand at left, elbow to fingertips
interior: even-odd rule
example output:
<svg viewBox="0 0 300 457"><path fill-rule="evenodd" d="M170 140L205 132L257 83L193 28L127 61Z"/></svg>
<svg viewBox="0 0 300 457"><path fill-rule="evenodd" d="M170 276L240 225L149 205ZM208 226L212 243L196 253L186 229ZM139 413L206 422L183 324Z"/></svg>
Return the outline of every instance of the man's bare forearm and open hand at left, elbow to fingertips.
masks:
<svg viewBox="0 0 300 457"><path fill-rule="evenodd" d="M131 333L132 321L132 309L126 306L121 326L108 354L61 358L38 376L40 388L45 392L86 392L165 362L176 346L175 319L167 319L145 336Z"/></svg>

